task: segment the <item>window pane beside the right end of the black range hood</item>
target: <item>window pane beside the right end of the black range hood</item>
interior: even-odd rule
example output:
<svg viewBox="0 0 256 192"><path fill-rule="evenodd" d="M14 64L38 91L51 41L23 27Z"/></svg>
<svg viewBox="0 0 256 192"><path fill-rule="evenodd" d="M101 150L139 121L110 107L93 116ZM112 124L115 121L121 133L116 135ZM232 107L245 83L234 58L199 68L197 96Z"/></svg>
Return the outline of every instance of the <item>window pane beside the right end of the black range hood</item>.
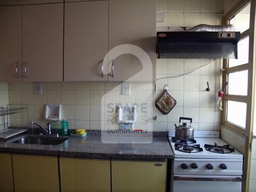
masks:
<svg viewBox="0 0 256 192"><path fill-rule="evenodd" d="M229 67L246 64L249 61L249 37L238 42L238 59L229 59Z"/></svg>

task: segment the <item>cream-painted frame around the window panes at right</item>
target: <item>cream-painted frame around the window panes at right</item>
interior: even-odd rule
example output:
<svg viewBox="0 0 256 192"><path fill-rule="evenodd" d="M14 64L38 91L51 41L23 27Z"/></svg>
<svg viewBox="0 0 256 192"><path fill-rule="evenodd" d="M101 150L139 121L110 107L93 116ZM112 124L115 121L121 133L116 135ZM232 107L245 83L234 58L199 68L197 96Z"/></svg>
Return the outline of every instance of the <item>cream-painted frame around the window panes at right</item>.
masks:
<svg viewBox="0 0 256 192"><path fill-rule="evenodd" d="M245 7L248 3L251 3L250 7L250 28L242 33L241 38L245 38L246 35L249 35L249 62L245 65L240 66L234 66L230 67L230 69L227 67L228 62L227 59L223 59L223 66L222 66L222 85L225 85L225 82L227 80L227 73L230 73L230 71L236 71L241 69L248 69L248 85L247 85L247 96L239 96L239 95L226 95L224 96L224 99L222 100L222 107L223 111L221 114L221 123L222 126L226 127L227 129L233 131L234 133L237 133L238 135L241 135L241 137L245 138L245 153L244 153L244 162L243 162L243 185L242 185L242 191L249 191L249 185L250 185L250 166L251 166L251 143L253 141L253 123L254 122L254 96L255 96L255 57L256 57L256 51L254 49L254 42L256 42L255 39L255 9L256 9L256 0L240 0L238 3L228 11L224 17L223 17L223 24L229 23L229 19L234 17L235 14L237 14L243 7ZM255 52L255 53L254 53ZM247 109L246 109L246 129L243 129L237 125L234 125L233 123L226 121L226 102L228 100L233 101L242 101L247 103Z"/></svg>

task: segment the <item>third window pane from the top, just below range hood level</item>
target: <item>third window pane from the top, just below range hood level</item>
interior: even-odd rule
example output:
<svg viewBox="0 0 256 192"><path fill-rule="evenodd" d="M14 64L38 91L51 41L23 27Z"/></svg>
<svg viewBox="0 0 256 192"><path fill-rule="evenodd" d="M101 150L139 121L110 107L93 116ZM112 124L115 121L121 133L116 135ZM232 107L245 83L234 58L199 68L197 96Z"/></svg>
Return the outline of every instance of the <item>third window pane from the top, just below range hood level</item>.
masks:
<svg viewBox="0 0 256 192"><path fill-rule="evenodd" d="M228 82L228 94L247 95L248 70L229 73Z"/></svg>

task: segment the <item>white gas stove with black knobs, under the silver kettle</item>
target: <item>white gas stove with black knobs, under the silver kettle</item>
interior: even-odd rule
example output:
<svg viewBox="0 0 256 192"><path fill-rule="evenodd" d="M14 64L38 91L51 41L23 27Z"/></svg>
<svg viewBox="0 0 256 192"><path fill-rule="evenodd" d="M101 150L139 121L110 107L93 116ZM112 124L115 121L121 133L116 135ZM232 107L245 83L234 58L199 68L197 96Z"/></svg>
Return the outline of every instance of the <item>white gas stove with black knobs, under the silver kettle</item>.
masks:
<svg viewBox="0 0 256 192"><path fill-rule="evenodd" d="M181 141L169 131L174 153L173 192L240 192L243 155L219 138L218 131L195 131Z"/></svg>

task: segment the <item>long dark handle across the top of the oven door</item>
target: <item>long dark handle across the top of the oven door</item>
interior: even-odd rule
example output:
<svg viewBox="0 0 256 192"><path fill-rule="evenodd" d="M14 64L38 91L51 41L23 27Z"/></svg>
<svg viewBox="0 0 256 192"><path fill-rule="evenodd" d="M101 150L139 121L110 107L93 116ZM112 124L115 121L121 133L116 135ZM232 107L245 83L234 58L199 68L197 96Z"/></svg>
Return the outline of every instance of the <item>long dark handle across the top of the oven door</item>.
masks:
<svg viewBox="0 0 256 192"><path fill-rule="evenodd" d="M236 178L194 178L194 177L179 177L174 176L174 181L229 181L229 182L242 182L243 179L241 177Z"/></svg>

